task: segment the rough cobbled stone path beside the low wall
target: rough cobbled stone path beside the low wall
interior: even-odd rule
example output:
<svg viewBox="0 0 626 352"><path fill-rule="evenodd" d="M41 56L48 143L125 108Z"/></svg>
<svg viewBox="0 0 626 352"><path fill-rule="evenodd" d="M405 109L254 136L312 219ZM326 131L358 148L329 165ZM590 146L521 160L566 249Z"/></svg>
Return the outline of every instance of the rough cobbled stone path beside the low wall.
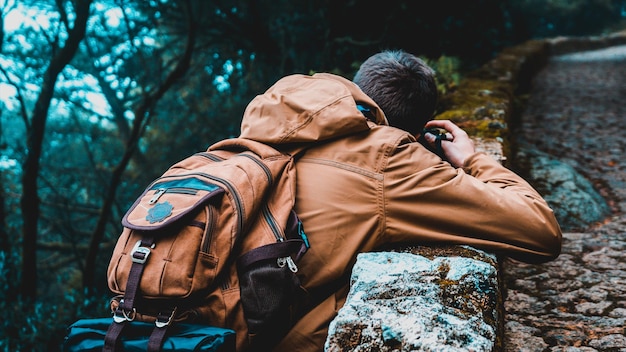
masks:
<svg viewBox="0 0 626 352"><path fill-rule="evenodd" d="M534 78L522 137L590 180L613 214L564 233L552 262L504 262L506 352L626 352L625 124L626 46L555 56Z"/></svg>

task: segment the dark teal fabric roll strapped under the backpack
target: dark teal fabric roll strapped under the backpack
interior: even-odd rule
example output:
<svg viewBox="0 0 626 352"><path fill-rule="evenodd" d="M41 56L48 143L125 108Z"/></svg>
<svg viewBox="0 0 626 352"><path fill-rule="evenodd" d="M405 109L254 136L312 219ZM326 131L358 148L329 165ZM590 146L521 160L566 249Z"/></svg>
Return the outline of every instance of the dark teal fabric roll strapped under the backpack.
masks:
<svg viewBox="0 0 626 352"><path fill-rule="evenodd" d="M104 336L112 322L112 318L78 320L68 327L63 351L102 351ZM154 327L152 323L131 322L120 339L122 350L146 351ZM199 324L173 324L161 351L235 351L235 331Z"/></svg>

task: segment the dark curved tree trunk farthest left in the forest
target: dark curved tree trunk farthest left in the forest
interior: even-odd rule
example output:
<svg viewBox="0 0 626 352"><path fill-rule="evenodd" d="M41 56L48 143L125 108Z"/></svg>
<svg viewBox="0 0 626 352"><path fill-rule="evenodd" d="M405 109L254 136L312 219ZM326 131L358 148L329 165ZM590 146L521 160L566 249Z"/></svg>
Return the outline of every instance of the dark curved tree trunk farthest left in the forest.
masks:
<svg viewBox="0 0 626 352"><path fill-rule="evenodd" d="M43 76L41 92L37 97L30 129L27 136L26 160L22 170L22 276L20 293L24 298L35 299L37 295L37 223L39 221L39 194L37 178L39 176L39 158L43 144L46 120L50 101L54 94L57 77L63 68L72 60L78 44L85 36L89 7L92 0L76 2L76 19L74 27L68 29L69 35L65 45L50 60Z"/></svg>

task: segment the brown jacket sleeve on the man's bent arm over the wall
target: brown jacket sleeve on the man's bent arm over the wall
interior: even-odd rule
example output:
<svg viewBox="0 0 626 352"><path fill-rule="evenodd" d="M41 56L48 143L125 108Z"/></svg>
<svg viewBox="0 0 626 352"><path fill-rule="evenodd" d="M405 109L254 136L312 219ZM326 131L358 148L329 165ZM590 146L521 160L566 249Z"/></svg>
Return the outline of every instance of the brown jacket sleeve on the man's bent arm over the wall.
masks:
<svg viewBox="0 0 626 352"><path fill-rule="evenodd" d="M560 254L552 209L484 153L456 169L419 143L400 145L385 166L384 190L386 242L466 244L527 263Z"/></svg>

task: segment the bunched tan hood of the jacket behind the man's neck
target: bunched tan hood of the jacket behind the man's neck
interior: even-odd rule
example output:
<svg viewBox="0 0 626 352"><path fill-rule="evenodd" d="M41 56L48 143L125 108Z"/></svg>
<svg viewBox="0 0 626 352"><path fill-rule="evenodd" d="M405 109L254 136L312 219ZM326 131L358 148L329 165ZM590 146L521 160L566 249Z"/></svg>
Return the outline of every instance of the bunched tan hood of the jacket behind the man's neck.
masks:
<svg viewBox="0 0 626 352"><path fill-rule="evenodd" d="M376 124L388 125L380 107L341 76L286 76L248 104L240 137L274 145L300 144L368 130L357 102L370 109Z"/></svg>

